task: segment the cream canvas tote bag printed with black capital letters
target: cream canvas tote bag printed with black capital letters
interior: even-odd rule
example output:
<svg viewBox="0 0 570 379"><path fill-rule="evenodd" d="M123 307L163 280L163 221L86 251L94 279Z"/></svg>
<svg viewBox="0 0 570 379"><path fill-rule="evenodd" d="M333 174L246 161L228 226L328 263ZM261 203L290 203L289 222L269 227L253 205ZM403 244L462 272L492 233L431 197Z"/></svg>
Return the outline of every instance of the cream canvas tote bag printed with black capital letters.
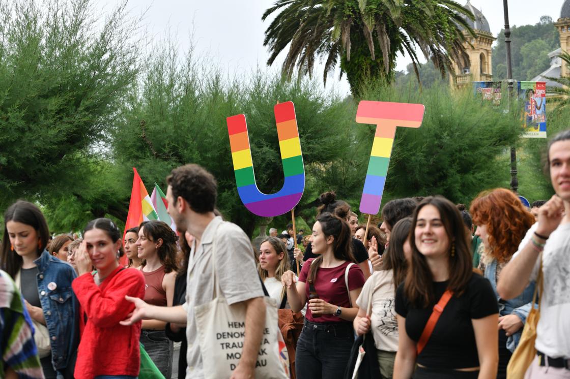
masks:
<svg viewBox="0 0 570 379"><path fill-rule="evenodd" d="M214 233L211 253L214 299L194 307L203 373L206 379L225 379L231 376L241 358L245 336L245 305L239 303L228 305L219 287L215 270L216 242ZM279 359L278 305L268 296L263 298L266 305L265 327L255 363L255 378L288 379Z"/></svg>

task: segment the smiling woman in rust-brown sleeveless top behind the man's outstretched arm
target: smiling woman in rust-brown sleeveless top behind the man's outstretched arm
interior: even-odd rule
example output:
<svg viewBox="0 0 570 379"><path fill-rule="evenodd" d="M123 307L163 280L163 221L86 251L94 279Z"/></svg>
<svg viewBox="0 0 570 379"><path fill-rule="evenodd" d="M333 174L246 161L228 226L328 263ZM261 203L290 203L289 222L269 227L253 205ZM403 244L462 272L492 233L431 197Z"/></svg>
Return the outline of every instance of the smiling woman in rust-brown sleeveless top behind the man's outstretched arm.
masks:
<svg viewBox="0 0 570 379"><path fill-rule="evenodd" d="M176 257L178 237L163 221L145 221L139 226L139 239L135 242L137 253L143 260L139 270L144 275L146 290L144 300L159 307L172 307L176 283ZM150 359L165 378L172 376L172 341L164 331L166 323L159 320L143 320L141 343Z"/></svg>

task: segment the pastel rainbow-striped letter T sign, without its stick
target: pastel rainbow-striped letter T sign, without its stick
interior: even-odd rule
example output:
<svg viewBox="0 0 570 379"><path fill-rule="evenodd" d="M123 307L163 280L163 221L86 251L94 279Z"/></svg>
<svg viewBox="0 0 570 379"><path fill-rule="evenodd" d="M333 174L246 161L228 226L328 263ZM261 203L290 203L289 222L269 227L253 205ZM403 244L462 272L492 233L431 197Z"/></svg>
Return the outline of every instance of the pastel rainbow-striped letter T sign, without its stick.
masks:
<svg viewBox="0 0 570 379"><path fill-rule="evenodd" d="M420 127L424 120L424 110L423 104L368 100L359 103L356 122L376 125L372 153L360 199L360 212L376 215L380 211L396 127Z"/></svg>

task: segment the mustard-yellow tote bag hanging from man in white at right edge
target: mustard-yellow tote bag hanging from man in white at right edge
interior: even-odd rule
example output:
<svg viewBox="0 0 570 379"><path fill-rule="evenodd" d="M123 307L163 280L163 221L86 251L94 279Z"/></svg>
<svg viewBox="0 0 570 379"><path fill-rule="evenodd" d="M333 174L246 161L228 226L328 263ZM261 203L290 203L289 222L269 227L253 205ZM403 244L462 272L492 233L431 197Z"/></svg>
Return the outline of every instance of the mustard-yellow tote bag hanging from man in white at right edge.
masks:
<svg viewBox="0 0 570 379"><path fill-rule="evenodd" d="M516 347L515 352L512 353L511 360L508 361L508 379L523 379L524 374L527 372L527 369L530 367L532 361L536 357L536 326L538 325L538 320L540 319L540 301L541 294L543 292L543 284L544 278L542 274L542 253L540 253L540 267L538 270L538 276L536 277L535 291L532 295L531 311L528 312L527 321L524 323L524 329L522 335L520 336L519 345ZM536 300L537 295L539 298L538 302ZM535 304L538 304L538 309L535 308Z"/></svg>

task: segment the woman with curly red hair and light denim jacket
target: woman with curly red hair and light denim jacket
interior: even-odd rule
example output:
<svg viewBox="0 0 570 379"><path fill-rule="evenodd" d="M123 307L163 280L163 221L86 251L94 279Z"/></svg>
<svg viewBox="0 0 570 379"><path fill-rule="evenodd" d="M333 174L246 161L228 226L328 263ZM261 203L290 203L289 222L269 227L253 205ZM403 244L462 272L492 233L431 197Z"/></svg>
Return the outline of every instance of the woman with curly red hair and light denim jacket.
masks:
<svg viewBox="0 0 570 379"><path fill-rule="evenodd" d="M527 230L534 224L534 216L518 197L504 188L480 193L470 208L475 235L483 241L479 269L490 282L499 303L499 369L497 378L506 378L508 361L520 340L524 322L530 311L534 282L523 293L511 300L503 300L497 293L500 271L511 260Z"/></svg>

